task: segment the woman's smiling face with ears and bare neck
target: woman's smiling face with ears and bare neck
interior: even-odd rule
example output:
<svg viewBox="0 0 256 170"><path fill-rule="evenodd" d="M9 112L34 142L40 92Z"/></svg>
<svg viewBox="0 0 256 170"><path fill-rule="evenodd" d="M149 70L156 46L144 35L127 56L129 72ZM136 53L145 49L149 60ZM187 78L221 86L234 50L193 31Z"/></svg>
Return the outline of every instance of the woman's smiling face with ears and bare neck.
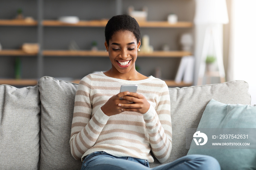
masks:
<svg viewBox="0 0 256 170"><path fill-rule="evenodd" d="M135 36L130 31L118 31L105 42L112 68L105 72L109 77L125 80L142 80L148 77L143 76L135 69L135 61L140 47L140 40L137 44Z"/></svg>

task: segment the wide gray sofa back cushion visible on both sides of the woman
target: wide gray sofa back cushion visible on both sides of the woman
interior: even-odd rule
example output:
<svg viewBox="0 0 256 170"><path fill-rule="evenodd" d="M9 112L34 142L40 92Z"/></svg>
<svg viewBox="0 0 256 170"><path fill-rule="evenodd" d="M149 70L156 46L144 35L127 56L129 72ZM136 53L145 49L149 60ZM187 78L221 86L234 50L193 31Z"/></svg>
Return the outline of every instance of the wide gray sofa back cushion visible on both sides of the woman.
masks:
<svg viewBox="0 0 256 170"><path fill-rule="evenodd" d="M40 169L81 169L70 151L69 139L78 84L42 77ZM187 155L186 128L197 128L207 103L214 98L222 103L250 104L248 84L230 81L222 84L169 88L173 128L173 148L167 162ZM160 165L155 159L151 167Z"/></svg>

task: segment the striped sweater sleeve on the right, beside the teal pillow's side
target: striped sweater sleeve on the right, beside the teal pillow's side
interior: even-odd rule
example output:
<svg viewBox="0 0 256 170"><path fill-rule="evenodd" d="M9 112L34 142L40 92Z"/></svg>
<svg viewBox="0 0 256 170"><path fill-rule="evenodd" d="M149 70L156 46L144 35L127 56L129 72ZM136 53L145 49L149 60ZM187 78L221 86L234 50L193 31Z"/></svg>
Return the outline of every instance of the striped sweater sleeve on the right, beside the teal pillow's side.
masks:
<svg viewBox="0 0 256 170"><path fill-rule="evenodd" d="M151 150L159 162L165 162L172 150L172 124L169 89L163 84L157 105L143 115L149 135Z"/></svg>

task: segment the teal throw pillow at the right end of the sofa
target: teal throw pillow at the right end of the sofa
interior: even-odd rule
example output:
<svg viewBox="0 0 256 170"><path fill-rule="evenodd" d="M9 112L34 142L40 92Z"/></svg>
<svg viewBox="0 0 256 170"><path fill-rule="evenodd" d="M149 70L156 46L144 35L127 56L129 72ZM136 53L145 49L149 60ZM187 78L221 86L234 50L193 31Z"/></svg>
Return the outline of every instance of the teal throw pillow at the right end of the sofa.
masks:
<svg viewBox="0 0 256 170"><path fill-rule="evenodd" d="M223 104L212 99L203 112L198 128L256 128L256 107L241 104ZM256 169L255 148L190 148L188 155L191 154L210 155L216 158L222 170Z"/></svg>

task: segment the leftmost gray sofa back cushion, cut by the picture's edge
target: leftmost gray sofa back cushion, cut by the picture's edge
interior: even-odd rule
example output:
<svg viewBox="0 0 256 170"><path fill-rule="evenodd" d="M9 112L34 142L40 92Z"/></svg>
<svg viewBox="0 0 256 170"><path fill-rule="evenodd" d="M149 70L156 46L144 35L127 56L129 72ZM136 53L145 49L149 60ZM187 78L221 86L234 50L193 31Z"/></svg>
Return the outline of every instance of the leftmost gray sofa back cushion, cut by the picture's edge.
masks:
<svg viewBox="0 0 256 170"><path fill-rule="evenodd" d="M0 169L38 169L38 86L0 85Z"/></svg>

